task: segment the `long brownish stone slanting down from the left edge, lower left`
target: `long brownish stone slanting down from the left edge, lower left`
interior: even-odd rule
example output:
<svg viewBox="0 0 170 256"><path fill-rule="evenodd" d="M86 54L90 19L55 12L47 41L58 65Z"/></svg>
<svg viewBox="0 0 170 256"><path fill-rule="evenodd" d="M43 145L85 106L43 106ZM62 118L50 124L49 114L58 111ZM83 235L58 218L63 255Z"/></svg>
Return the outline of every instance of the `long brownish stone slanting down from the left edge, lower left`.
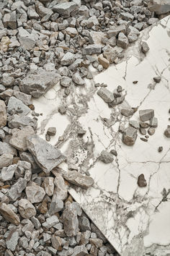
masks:
<svg viewBox="0 0 170 256"><path fill-rule="evenodd" d="M10 223L19 225L20 219L14 211L4 202L0 202L0 213Z"/></svg>

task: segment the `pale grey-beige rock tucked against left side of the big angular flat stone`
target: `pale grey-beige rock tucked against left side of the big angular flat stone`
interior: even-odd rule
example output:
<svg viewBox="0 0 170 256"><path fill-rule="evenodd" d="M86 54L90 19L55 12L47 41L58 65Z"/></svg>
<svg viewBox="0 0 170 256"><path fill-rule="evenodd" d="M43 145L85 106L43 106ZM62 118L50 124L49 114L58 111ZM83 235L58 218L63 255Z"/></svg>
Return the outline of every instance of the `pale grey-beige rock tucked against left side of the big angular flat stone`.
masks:
<svg viewBox="0 0 170 256"><path fill-rule="evenodd" d="M27 150L27 142L26 139L30 135L34 135L35 131L32 127L24 127L21 130L18 130L12 134L11 140L9 140L10 145L17 150L26 151Z"/></svg>

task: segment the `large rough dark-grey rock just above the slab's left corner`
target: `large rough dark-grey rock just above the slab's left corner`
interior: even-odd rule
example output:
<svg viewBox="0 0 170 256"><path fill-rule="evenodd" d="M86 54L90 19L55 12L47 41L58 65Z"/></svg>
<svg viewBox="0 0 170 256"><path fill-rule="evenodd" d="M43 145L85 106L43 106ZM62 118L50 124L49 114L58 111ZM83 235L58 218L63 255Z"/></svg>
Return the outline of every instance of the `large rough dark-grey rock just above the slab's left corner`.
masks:
<svg viewBox="0 0 170 256"><path fill-rule="evenodd" d="M35 73L28 72L27 76L21 81L19 88L23 93L40 98L56 85L59 80L61 80L61 75L57 72L38 69Z"/></svg>

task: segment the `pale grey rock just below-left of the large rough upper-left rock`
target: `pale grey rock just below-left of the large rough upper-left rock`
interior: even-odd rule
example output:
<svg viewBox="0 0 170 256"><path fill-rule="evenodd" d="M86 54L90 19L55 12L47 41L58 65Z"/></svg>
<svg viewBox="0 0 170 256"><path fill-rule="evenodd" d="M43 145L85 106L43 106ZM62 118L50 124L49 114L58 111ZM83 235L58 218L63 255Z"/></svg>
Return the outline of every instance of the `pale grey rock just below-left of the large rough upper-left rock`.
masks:
<svg viewBox="0 0 170 256"><path fill-rule="evenodd" d="M9 98L7 112L9 114L20 114L21 116L26 116L30 112L30 108L28 108L24 103L14 96Z"/></svg>

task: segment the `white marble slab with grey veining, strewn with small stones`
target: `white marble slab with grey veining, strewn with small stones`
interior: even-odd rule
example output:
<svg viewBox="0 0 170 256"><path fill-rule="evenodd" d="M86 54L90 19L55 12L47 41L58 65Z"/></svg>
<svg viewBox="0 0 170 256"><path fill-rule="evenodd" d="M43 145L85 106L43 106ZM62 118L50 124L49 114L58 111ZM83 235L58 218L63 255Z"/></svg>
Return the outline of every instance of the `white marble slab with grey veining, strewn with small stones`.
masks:
<svg viewBox="0 0 170 256"><path fill-rule="evenodd" d="M150 50L140 52L140 41L146 40ZM161 76L161 82L153 77ZM137 84L133 81L137 80ZM113 91L121 85L125 101L109 108L99 95L95 82L104 82ZM128 48L120 64L86 80L85 87L71 87L71 94L62 98L59 85L44 97L35 99L38 133L45 137L48 127L55 126L57 135L50 141L61 148L70 163L94 178L94 186L84 190L72 187L71 195L122 256L170 255L170 138L164 130L169 121L170 108L170 17L148 27L138 41ZM66 115L58 113L58 106L67 106ZM122 106L140 109L153 108L158 128L148 142L138 138L133 147L122 144L118 132L120 123L128 127L129 120L139 120L138 111L130 118L120 114ZM104 121L107 118L108 121ZM84 137L77 131L86 130ZM63 136L63 141L57 142ZM158 147L164 150L158 153ZM117 157L109 164L99 161L102 150L117 150ZM140 188L137 179L144 174L147 187Z"/></svg>

